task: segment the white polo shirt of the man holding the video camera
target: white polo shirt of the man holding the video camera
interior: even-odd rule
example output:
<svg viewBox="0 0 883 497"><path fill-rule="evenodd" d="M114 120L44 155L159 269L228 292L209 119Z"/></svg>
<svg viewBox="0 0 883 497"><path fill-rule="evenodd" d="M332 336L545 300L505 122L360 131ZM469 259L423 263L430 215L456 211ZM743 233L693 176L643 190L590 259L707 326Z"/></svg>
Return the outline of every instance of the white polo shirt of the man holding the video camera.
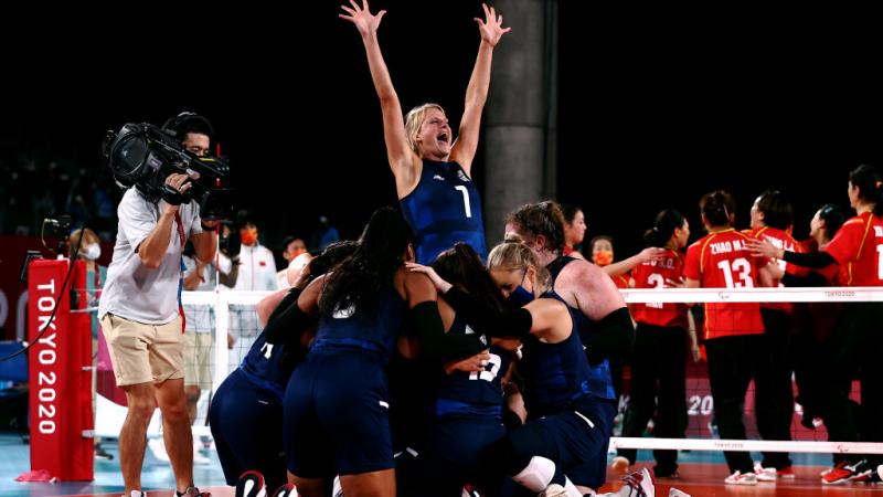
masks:
<svg viewBox="0 0 883 497"><path fill-rule="evenodd" d="M158 268L145 266L136 252L157 225L166 205L162 200L158 204L148 201L135 188L123 195L117 207L119 225L114 258L98 303L99 319L110 313L131 321L163 325L178 315L183 251L178 223L172 222L171 241ZM187 237L202 233L196 202L181 204L178 212Z"/></svg>

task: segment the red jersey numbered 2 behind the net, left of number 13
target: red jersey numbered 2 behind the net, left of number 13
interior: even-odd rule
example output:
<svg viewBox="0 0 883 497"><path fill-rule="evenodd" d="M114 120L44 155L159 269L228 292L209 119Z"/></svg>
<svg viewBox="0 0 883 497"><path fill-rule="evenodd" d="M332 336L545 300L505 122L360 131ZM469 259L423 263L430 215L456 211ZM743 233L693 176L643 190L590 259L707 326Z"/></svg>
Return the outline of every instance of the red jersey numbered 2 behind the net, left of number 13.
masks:
<svg viewBox="0 0 883 497"><path fill-rule="evenodd" d="M635 288L664 288L667 279L679 281L683 275L683 257L668 250L659 261L647 261L631 269ZM638 322L653 326L687 329L687 304L647 303L635 304L631 315Z"/></svg>

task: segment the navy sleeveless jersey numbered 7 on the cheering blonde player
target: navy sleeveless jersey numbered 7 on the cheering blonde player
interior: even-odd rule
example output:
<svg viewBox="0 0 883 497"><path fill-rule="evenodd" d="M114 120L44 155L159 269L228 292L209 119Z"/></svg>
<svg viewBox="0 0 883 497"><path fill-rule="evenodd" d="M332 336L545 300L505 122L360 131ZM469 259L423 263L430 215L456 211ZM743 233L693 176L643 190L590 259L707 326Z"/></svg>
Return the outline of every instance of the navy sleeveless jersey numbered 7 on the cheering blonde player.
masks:
<svg viewBox="0 0 883 497"><path fill-rule="evenodd" d="M417 262L432 264L457 242L488 258L481 198L472 180L457 162L423 161L417 188L402 202L402 214L414 231Z"/></svg>

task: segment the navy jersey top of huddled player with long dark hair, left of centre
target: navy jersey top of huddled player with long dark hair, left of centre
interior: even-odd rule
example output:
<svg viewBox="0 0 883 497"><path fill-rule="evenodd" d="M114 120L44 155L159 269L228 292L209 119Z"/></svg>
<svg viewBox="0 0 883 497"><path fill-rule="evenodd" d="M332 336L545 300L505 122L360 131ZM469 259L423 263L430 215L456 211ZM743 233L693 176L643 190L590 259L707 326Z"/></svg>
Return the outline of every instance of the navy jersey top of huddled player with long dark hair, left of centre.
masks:
<svg viewBox="0 0 883 497"><path fill-rule="evenodd" d="M375 309L337 309L319 321L310 353L327 347L358 347L379 352L386 364L398 338L405 300L393 287L381 290Z"/></svg>

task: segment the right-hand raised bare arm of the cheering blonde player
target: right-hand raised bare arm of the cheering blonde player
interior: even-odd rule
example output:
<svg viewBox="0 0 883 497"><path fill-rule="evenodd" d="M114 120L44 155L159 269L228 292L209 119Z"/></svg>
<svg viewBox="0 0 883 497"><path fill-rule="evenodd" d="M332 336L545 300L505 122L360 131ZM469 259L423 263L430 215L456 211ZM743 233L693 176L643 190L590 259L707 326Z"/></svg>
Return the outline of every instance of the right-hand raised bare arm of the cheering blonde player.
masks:
<svg viewBox="0 0 883 497"><path fill-rule="evenodd" d="M478 23L478 32L481 34L481 44L478 45L476 65L472 67L469 86L466 88L466 106L460 119L457 142L450 150L450 160L459 163L467 175L471 175L472 159L478 148L478 129L481 125L481 110L488 99L493 47L497 46L504 33L512 30L512 28L502 27L503 17L497 15L497 11L492 7L488 9L487 3L482 3L481 7L485 9L485 21L475 18Z"/></svg>

